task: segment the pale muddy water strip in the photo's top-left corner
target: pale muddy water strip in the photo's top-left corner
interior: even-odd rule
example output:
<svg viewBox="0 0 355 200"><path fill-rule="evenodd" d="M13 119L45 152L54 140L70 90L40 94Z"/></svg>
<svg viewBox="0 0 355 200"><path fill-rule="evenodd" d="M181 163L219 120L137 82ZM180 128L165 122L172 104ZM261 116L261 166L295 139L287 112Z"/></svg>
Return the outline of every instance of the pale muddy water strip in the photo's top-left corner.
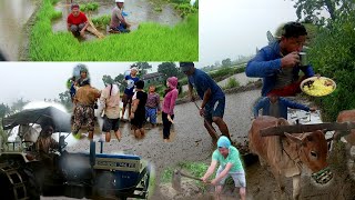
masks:
<svg viewBox="0 0 355 200"><path fill-rule="evenodd" d="M36 9L36 0L0 1L0 49L8 60L18 60L22 27Z"/></svg>

